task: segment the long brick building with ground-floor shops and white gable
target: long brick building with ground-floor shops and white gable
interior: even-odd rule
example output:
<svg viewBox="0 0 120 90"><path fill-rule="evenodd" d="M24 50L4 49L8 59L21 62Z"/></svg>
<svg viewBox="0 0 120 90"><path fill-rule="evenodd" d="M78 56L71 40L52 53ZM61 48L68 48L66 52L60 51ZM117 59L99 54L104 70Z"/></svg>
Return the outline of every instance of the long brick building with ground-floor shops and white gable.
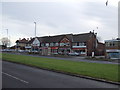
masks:
<svg viewBox="0 0 120 90"><path fill-rule="evenodd" d="M41 55L77 52L81 56L104 55L105 45L96 38L96 33L63 34L56 36L35 37L31 50L38 50Z"/></svg>

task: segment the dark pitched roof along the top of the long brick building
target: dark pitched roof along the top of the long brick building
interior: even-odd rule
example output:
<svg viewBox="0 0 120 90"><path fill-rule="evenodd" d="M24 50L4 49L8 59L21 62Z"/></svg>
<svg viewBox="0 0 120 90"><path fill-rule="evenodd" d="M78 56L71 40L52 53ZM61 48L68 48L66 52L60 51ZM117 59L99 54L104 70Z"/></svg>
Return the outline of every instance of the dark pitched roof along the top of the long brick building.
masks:
<svg viewBox="0 0 120 90"><path fill-rule="evenodd" d="M63 35L55 35L55 36L44 36L44 37L36 37L41 43L59 43L64 37L68 38L71 42L86 42L90 39L90 37L96 36L94 33L83 33L83 34L63 34ZM31 44L35 38L27 41L22 39L21 41L17 40L16 42L24 42Z"/></svg>

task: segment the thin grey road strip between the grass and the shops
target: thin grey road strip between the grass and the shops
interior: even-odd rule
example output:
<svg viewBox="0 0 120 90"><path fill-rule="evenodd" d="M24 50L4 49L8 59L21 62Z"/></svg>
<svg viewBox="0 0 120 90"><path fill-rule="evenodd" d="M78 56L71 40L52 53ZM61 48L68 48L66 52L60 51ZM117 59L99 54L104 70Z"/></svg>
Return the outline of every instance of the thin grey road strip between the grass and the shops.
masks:
<svg viewBox="0 0 120 90"><path fill-rule="evenodd" d="M101 63L101 64L120 64L118 62L110 62L110 61L100 61L100 60L87 60L84 57L53 57L53 56L40 56L40 55L31 55L31 54L25 54L25 53L9 53L9 54L17 54L17 55L26 55L26 56L32 56L32 57L42 57L42 58L53 58L56 60L68 60L68 61L78 61L78 62L89 62L89 63Z"/></svg>

